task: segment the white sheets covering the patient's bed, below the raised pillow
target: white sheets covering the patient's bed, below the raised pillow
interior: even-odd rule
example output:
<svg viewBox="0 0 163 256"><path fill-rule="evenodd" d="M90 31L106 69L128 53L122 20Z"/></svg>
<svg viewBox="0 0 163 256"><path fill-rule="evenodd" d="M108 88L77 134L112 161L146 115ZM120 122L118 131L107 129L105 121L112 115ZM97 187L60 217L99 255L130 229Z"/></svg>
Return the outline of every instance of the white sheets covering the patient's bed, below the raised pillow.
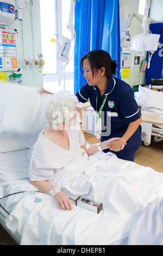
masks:
<svg viewBox="0 0 163 256"><path fill-rule="evenodd" d="M81 168L79 160L70 164L62 170L66 179L61 181L58 174L57 180L61 186L64 183L70 195L82 192L82 188L87 198L102 202L101 213L76 205L72 211L59 210L53 198L34 192L36 188L28 179L28 151L0 154L3 196L29 191L1 200L10 212L7 227L22 236L21 245L126 244L130 229L146 206L162 197L163 174L117 159L112 153L98 153L89 157L89 162L85 155ZM71 176L70 168L74 170Z"/></svg>

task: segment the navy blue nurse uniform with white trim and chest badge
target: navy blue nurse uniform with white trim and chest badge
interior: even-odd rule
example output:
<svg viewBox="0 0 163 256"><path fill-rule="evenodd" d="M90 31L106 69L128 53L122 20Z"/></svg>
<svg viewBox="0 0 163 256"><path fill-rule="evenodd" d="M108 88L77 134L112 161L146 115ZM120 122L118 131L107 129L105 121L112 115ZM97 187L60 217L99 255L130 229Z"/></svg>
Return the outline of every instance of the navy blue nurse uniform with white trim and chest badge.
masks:
<svg viewBox="0 0 163 256"><path fill-rule="evenodd" d="M129 124L141 117L140 109L135 101L133 89L124 81L115 77L110 77L108 86L101 98L97 86L89 86L85 84L76 94L81 102L90 101L91 106L97 112L101 108L103 101L107 95L103 111L101 113L102 133L101 141L114 137L122 137L126 132ZM96 103L97 96L97 103ZM118 158L123 160L134 161L136 150L141 145L141 129L140 126L134 134L128 139L127 145L123 150L115 152ZM110 149L103 150L105 153Z"/></svg>

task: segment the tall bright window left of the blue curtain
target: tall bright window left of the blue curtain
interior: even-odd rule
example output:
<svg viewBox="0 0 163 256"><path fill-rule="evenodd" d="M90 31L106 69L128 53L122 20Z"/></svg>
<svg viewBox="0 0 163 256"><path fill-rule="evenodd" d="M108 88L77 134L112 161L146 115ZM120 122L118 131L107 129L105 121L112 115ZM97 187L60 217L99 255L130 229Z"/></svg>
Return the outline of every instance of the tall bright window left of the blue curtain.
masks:
<svg viewBox="0 0 163 256"><path fill-rule="evenodd" d="M44 84L50 81L58 83L59 74L61 74L61 83L63 83L64 74L62 66L65 63L57 59L57 51L59 41L62 41L62 36L71 38L71 33L67 29L70 6L71 0L40 0L42 54L45 60L45 66L43 67ZM70 50L70 59L71 57L72 59L65 69L66 81L73 80L73 48L74 41L71 42ZM72 85L73 82L71 82L71 89L67 87L66 89L72 91Z"/></svg>

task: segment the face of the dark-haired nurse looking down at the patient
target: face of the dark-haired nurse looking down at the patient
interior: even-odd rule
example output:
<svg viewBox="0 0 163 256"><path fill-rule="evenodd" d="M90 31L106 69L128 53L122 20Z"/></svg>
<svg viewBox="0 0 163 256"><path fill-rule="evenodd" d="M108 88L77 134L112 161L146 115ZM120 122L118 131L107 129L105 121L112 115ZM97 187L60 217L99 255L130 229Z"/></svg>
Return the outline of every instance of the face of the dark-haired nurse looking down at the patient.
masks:
<svg viewBox="0 0 163 256"><path fill-rule="evenodd" d="M89 83L89 86L98 86L101 80L101 75L100 75L101 71L95 70L93 72L94 73L94 76L93 76L89 59L84 59L83 69L84 69L84 77L86 78L87 83Z"/></svg>

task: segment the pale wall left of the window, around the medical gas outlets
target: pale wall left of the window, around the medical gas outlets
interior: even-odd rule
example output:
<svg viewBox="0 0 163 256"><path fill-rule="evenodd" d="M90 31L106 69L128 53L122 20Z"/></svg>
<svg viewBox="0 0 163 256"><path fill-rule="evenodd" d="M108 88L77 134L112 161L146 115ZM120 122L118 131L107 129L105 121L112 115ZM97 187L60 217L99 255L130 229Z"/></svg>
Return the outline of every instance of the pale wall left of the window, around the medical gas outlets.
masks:
<svg viewBox="0 0 163 256"><path fill-rule="evenodd" d="M17 1L15 1L15 7L17 9ZM27 10L23 10L23 20L15 20L9 28L23 29L18 32L18 52L20 57L20 72L18 74L23 75L23 84L26 86L35 86L37 82L38 87L43 87L43 75L39 73L36 67L29 68L22 65L23 59L29 59L29 49L31 52L32 59L37 59L38 54L41 53L41 25L40 25L40 1L34 0L33 5L31 2L27 4L29 11L28 20ZM3 27L3 26L2 26ZM17 73L17 72L15 72ZM8 74L8 77L11 74Z"/></svg>

